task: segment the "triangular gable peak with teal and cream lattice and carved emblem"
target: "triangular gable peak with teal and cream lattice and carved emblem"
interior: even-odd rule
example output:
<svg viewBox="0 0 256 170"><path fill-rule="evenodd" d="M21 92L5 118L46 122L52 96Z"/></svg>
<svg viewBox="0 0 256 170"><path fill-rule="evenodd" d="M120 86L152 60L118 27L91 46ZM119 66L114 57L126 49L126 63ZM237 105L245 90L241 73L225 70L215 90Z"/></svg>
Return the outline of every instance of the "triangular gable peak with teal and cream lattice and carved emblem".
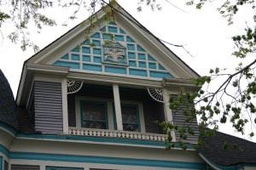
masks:
<svg viewBox="0 0 256 170"><path fill-rule="evenodd" d="M151 33L143 30L137 20L120 8L114 22L99 23L85 38L77 26L36 54L28 63L69 66L70 71L90 72L123 77L161 79L198 75L185 65ZM103 16L100 10L97 17ZM111 41L113 37L113 41Z"/></svg>

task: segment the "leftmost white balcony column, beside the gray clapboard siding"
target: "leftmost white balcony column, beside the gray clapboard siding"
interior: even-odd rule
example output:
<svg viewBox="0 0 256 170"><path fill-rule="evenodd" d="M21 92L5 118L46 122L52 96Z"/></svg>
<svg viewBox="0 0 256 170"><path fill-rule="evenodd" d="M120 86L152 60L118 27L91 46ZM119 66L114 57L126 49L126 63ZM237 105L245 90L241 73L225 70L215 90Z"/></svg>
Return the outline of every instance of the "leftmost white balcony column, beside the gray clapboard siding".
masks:
<svg viewBox="0 0 256 170"><path fill-rule="evenodd" d="M67 113L67 78L61 82L62 92L62 119L63 119L63 133L68 133L68 113Z"/></svg>

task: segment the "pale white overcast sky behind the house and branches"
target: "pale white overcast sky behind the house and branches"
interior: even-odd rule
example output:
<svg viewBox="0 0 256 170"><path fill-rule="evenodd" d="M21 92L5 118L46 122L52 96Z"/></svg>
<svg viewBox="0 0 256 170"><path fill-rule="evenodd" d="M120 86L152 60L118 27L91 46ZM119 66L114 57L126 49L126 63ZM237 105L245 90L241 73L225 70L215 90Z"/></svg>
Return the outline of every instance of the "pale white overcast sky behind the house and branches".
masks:
<svg viewBox="0 0 256 170"><path fill-rule="evenodd" d="M201 76L207 75L209 70L215 67L227 68L230 71L234 69L239 59L231 56L234 50L231 37L243 33L246 22L250 24L247 15L245 15L249 13L247 8L241 10L241 14L235 18L236 24L227 26L226 19L218 14L216 10L218 4L207 3L198 10L195 7L185 5L185 1L168 0L159 2L161 2L162 7L160 11L154 10L153 12L144 5L143 11L138 13L137 0L118 1L128 13L151 31L154 36L172 44L183 45L189 51L189 54L183 48L166 44ZM45 10L45 12L56 20L58 26L44 27L40 34L34 31L33 26L31 27L31 39L41 49L89 16L86 11L80 9L77 20L67 20L68 16L73 14L73 8L54 8ZM66 21L67 26L61 26ZM1 29L3 36L0 36L0 69L8 78L16 96L23 62L34 53L32 49L23 52L20 49L20 44L9 41L7 36L11 29L13 29L11 22L7 22ZM223 126L220 130L238 135L231 130L230 125ZM256 138L253 141L256 142Z"/></svg>

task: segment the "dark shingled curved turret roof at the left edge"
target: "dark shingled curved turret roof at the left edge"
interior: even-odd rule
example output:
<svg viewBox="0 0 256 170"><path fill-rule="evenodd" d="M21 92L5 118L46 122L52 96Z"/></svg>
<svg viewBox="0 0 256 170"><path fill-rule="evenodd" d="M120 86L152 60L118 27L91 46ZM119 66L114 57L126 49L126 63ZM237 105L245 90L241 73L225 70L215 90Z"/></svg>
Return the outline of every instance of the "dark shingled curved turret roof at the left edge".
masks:
<svg viewBox="0 0 256 170"><path fill-rule="evenodd" d="M0 122L6 123L16 130L19 129L14 94L9 82L0 69Z"/></svg>

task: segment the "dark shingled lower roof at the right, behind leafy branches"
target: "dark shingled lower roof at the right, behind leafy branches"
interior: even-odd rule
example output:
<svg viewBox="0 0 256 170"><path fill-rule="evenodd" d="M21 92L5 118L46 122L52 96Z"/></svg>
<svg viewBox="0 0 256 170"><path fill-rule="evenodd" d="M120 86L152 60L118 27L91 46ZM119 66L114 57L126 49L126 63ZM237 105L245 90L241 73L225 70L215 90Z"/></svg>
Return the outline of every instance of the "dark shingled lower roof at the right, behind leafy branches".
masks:
<svg viewBox="0 0 256 170"><path fill-rule="evenodd" d="M199 153L208 161L220 166L256 163L256 143L220 132L203 140L205 145L199 149ZM228 144L228 150L223 149L224 143ZM238 146L237 149L234 149L234 144Z"/></svg>

